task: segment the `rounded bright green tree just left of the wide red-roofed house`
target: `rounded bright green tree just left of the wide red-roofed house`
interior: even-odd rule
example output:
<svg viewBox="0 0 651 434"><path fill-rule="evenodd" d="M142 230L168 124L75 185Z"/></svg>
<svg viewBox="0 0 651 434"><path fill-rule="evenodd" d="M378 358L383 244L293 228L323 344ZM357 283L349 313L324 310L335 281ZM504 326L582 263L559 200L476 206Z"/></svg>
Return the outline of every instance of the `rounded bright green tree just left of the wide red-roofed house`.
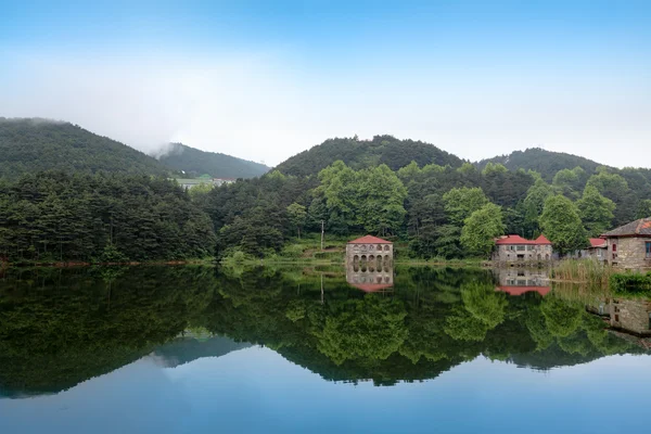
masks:
<svg viewBox="0 0 651 434"><path fill-rule="evenodd" d="M465 219L461 245L471 254L488 256L495 239L505 233L501 208L488 203Z"/></svg>

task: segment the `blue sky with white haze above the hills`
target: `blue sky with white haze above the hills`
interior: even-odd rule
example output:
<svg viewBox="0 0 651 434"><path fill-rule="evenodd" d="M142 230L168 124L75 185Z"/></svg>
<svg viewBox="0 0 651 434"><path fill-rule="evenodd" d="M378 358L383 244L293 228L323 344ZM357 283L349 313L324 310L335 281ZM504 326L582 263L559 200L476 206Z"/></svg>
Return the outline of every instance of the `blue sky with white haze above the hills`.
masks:
<svg viewBox="0 0 651 434"><path fill-rule="evenodd" d="M276 164L393 133L638 166L649 1L2 2L0 116ZM613 146L620 151L613 154Z"/></svg>

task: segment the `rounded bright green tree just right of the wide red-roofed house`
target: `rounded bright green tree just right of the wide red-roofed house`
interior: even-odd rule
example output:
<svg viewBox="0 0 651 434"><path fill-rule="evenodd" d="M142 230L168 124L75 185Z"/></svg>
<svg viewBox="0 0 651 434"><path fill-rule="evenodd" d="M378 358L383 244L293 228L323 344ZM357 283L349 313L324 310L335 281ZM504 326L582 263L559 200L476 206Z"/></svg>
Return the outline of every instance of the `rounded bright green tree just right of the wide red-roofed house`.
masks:
<svg viewBox="0 0 651 434"><path fill-rule="evenodd" d="M563 195L545 201L540 227L561 255L583 248L588 243L576 205Z"/></svg>

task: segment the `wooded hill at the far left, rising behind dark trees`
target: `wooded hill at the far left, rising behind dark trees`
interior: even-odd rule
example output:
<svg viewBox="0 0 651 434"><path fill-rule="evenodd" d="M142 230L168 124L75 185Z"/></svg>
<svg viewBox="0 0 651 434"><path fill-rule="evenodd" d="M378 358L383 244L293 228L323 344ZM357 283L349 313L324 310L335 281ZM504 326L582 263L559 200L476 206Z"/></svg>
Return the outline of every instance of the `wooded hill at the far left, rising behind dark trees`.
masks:
<svg viewBox="0 0 651 434"><path fill-rule="evenodd" d="M166 175L155 158L69 123L0 117L0 178L41 170Z"/></svg>

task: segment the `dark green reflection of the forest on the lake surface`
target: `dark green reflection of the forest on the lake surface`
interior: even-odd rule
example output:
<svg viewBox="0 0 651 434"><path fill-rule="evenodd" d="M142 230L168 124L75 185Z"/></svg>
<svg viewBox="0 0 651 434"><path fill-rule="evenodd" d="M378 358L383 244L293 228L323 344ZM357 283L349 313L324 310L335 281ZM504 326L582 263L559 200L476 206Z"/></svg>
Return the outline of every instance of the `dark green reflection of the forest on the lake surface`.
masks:
<svg viewBox="0 0 651 434"><path fill-rule="evenodd" d="M550 369L643 353L580 301L509 297L482 270L399 268L392 294L324 275L321 292L319 271L269 267L0 271L0 396L69 388L174 352L181 332L199 329L273 348L327 380L376 385L433 379L480 355ZM166 342L176 345L161 347Z"/></svg>

